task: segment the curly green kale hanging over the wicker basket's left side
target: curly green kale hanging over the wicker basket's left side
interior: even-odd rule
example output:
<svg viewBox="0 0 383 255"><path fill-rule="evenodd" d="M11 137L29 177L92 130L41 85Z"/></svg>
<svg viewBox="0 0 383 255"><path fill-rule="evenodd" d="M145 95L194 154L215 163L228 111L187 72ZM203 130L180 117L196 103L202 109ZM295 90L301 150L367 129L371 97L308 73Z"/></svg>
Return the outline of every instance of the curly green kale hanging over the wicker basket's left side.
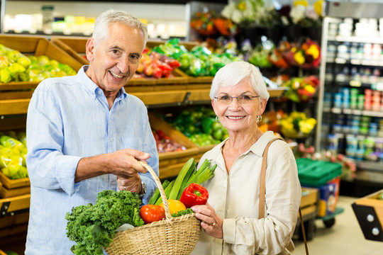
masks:
<svg viewBox="0 0 383 255"><path fill-rule="evenodd" d="M116 229L124 223L144 224L140 217L141 200L130 191L101 191L94 205L79 205L67 212L67 237L77 242L71 251L76 255L103 255Z"/></svg>

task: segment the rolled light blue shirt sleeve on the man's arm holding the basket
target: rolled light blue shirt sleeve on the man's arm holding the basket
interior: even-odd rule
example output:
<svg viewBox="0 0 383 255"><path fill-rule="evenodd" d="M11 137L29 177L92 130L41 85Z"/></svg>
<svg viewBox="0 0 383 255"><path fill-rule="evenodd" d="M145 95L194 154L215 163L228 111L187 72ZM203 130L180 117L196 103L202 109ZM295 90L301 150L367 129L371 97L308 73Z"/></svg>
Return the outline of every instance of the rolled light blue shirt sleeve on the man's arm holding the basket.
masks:
<svg viewBox="0 0 383 255"><path fill-rule="evenodd" d="M72 195L74 174L81 157L62 154L64 137L60 108L44 86L46 82L40 84L42 89L35 89L28 106L26 162L30 183L40 188L62 188Z"/></svg>

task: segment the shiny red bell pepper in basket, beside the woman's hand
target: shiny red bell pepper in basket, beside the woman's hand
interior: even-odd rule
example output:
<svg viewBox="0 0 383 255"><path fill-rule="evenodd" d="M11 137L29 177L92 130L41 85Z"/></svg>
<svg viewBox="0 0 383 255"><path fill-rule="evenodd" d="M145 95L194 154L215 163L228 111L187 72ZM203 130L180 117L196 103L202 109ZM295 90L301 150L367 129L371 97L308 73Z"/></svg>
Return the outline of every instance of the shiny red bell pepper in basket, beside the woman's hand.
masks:
<svg viewBox="0 0 383 255"><path fill-rule="evenodd" d="M209 193L206 188L197 183L190 183L187 188L182 192L179 200L186 205L187 208L191 208L193 205L206 205L209 198Z"/></svg>

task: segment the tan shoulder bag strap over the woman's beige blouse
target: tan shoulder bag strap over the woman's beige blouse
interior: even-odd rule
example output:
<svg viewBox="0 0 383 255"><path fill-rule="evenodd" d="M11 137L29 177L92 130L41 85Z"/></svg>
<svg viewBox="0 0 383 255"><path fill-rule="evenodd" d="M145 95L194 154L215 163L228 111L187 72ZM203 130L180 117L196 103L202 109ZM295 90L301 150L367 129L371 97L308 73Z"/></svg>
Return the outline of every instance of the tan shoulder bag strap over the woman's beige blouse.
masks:
<svg viewBox="0 0 383 255"><path fill-rule="evenodd" d="M260 174L260 212L258 217L259 219L262 219L263 217L265 217L265 182L266 182L267 152L269 151L270 145L275 140L283 140L283 139L279 137L273 138L266 145L265 151L263 152L262 168L261 168L261 174ZM306 250L306 255L309 255L309 248L307 247L306 234L304 232L304 222L302 218L301 207L299 207L299 218L301 220L302 235L304 237L304 248Z"/></svg>

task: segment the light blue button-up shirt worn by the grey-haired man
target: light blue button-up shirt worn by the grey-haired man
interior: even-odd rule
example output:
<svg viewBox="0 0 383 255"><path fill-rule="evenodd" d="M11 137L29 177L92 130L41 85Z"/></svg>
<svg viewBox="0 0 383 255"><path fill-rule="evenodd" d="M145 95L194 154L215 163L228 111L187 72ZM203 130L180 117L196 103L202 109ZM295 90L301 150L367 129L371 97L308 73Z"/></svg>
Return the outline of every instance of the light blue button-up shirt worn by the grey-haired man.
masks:
<svg viewBox="0 0 383 255"><path fill-rule="evenodd" d="M158 153L142 101L124 89L109 110L104 92L82 67L76 76L45 79L35 89L28 107L27 167L30 177L30 217L27 255L72 254L65 215L74 206L95 203L99 191L117 190L117 178L105 174L74 183L82 157L118 149L148 152L148 164L158 174ZM155 191L149 172L148 203Z"/></svg>

